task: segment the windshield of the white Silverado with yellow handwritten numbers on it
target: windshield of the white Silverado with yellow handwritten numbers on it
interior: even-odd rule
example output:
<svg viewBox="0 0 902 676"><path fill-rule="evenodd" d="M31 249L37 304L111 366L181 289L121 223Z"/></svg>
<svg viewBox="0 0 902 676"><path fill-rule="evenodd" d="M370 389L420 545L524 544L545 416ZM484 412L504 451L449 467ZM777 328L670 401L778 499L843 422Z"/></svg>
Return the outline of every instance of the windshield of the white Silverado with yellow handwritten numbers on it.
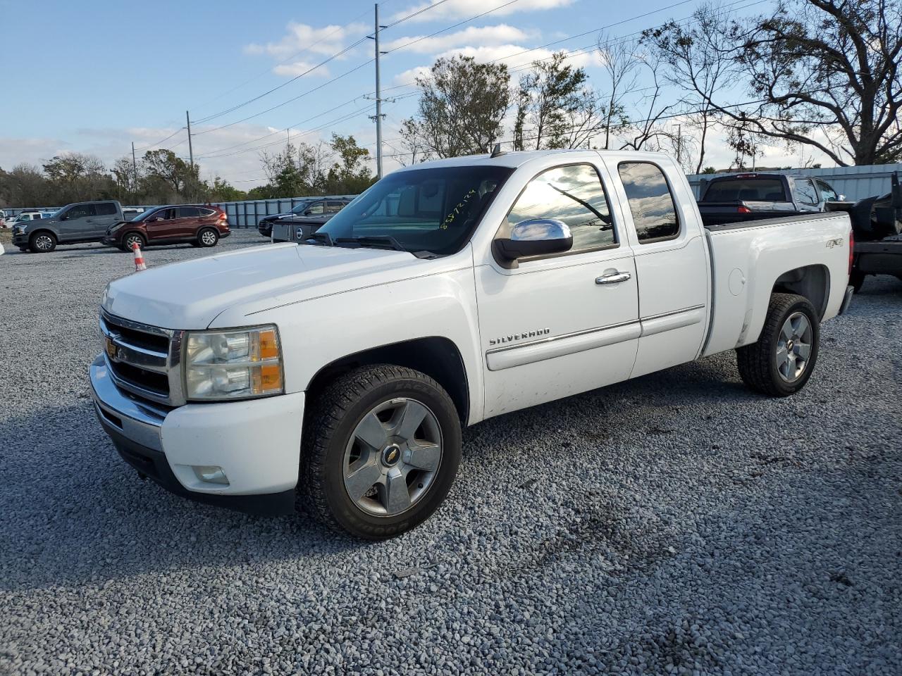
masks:
<svg viewBox="0 0 902 676"><path fill-rule="evenodd" d="M318 230L333 242L391 237L405 251L460 251L513 169L494 166L397 171ZM342 242L338 242L342 243Z"/></svg>

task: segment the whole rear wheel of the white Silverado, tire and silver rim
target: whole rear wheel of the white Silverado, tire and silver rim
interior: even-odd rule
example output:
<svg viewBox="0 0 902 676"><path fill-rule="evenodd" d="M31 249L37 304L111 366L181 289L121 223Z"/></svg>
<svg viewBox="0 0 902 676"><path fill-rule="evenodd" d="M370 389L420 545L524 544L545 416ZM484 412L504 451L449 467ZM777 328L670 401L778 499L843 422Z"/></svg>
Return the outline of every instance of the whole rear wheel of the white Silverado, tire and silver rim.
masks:
<svg viewBox="0 0 902 676"><path fill-rule="evenodd" d="M758 343L736 351L742 381L771 397L794 394L811 378L821 326L815 306L795 294L773 294Z"/></svg>

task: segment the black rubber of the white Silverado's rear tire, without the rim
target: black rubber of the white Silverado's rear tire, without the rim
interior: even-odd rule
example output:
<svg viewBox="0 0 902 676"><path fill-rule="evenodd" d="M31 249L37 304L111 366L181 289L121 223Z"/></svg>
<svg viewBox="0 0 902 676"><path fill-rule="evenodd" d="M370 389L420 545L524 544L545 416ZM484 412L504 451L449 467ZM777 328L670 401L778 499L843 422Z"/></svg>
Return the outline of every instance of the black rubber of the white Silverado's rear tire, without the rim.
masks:
<svg viewBox="0 0 902 676"><path fill-rule="evenodd" d="M801 373L795 379L787 380L778 363L780 334L789 317L796 313L805 315L811 327L810 352ZM815 306L802 296L773 294L758 342L736 350L736 362L742 382L756 392L770 397L788 397L796 393L805 387L815 370L820 342L821 326ZM797 365L797 361L795 363Z"/></svg>

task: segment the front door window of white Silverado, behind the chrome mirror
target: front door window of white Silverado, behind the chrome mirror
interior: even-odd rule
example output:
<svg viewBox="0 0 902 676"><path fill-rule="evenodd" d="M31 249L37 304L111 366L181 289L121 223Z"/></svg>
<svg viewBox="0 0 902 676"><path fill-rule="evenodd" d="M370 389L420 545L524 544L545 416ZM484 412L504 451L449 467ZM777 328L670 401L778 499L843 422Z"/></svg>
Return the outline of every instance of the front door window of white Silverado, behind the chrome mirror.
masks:
<svg viewBox="0 0 902 676"><path fill-rule="evenodd" d="M514 225L534 218L567 224L573 233L571 253L617 244L602 178L590 164L548 169L529 181L499 235L507 237Z"/></svg>

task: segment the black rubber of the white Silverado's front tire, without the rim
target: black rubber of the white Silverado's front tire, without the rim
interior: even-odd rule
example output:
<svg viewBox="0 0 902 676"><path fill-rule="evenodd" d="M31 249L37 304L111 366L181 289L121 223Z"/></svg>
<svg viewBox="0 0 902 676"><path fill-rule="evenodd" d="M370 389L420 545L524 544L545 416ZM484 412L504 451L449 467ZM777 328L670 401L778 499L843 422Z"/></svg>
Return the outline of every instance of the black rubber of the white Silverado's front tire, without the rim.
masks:
<svg viewBox="0 0 902 676"><path fill-rule="evenodd" d="M345 489L345 451L364 416L405 397L433 414L441 435L440 460L427 489L410 507L376 516ZM391 364L364 366L339 376L318 395L308 408L301 446L299 506L333 529L381 540L419 525L446 498L460 462L460 418L451 397L427 375Z"/></svg>

